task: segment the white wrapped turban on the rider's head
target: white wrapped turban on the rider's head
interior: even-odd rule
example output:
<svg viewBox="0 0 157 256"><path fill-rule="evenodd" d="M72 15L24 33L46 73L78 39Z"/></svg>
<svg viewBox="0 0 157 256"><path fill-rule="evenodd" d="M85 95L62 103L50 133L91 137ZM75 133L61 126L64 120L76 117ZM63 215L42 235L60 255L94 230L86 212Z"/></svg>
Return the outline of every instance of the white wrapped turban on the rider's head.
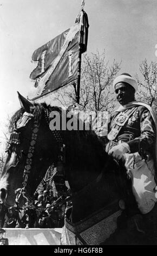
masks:
<svg viewBox="0 0 157 256"><path fill-rule="evenodd" d="M135 92L138 90L138 83L129 74L121 74L120 76L117 76L113 81L113 88L115 89L116 84L122 82L128 83L130 86L132 86L135 89Z"/></svg>

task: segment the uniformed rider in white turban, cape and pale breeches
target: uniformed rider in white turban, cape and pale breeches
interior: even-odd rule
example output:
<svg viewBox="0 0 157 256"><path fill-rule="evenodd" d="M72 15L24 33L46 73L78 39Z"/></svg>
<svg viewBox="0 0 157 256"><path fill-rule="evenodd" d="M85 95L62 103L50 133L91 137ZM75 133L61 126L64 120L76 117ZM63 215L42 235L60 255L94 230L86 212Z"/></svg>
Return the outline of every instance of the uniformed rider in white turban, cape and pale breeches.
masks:
<svg viewBox="0 0 157 256"><path fill-rule="evenodd" d="M156 116L149 105L135 101L138 84L132 76L117 76L113 87L121 106L110 117L106 151L126 167L138 208L147 219L156 202Z"/></svg>

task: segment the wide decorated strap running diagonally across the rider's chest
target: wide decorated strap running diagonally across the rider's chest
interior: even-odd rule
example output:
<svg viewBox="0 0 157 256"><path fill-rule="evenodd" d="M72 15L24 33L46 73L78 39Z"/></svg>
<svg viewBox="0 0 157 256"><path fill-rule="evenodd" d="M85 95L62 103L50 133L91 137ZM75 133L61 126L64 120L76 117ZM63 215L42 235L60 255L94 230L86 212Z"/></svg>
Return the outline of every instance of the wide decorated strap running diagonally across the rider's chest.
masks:
<svg viewBox="0 0 157 256"><path fill-rule="evenodd" d="M122 126L124 126L129 117L136 111L137 107L126 109L126 111L120 112L113 121L112 130L108 133L109 141L113 141L119 134Z"/></svg>

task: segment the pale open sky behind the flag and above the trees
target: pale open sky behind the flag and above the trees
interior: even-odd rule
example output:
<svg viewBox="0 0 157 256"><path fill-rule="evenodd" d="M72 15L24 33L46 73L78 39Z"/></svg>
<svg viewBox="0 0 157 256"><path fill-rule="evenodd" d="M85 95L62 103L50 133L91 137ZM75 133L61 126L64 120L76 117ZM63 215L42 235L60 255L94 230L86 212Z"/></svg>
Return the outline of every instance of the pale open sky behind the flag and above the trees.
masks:
<svg viewBox="0 0 157 256"><path fill-rule="evenodd" d="M0 130L17 108L17 90L28 95L35 68L31 55L74 24L82 0L0 0ZM157 61L156 0L85 0L89 19L88 51L106 50L110 63L135 75L147 58ZM2 133L0 132L0 141Z"/></svg>

